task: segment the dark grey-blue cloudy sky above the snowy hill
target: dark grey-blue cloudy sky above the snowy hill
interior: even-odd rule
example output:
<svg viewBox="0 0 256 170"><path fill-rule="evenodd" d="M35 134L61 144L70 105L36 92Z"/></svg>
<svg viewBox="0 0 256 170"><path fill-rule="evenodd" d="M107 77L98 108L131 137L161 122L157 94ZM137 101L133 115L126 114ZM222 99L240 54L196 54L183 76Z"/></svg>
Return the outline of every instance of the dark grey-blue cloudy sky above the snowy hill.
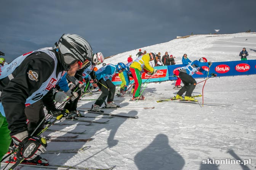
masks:
<svg viewBox="0 0 256 170"><path fill-rule="evenodd" d="M7 62L53 46L64 33L82 36L108 57L214 29L256 31L255 0L1 0L0 6Z"/></svg>

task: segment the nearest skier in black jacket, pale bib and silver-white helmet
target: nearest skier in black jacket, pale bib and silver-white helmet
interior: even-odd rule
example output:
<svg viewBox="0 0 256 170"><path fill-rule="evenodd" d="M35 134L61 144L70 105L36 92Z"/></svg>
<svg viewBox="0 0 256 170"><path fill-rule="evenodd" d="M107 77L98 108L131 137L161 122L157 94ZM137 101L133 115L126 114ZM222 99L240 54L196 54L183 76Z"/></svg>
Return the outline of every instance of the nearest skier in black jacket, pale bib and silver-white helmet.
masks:
<svg viewBox="0 0 256 170"><path fill-rule="evenodd" d="M46 140L28 135L24 109L42 99L58 82L63 71L74 76L78 69L91 61L92 55L90 44L74 34L62 35L55 47L54 50L36 50L21 55L10 63L13 66L11 69L2 68L0 158L8 151L12 138L19 148L19 159L25 159L25 163L30 160L39 164L42 162L40 154L46 151ZM50 110L49 113L66 116L66 110L62 109Z"/></svg>

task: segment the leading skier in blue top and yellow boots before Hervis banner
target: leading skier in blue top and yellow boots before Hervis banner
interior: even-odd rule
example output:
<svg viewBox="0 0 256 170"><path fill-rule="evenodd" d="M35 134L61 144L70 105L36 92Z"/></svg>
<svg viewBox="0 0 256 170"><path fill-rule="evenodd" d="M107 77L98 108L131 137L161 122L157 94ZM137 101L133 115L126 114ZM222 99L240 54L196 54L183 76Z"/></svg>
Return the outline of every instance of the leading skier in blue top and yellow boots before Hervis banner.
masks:
<svg viewBox="0 0 256 170"><path fill-rule="evenodd" d="M177 95L174 96L172 99L182 99L182 94L185 93L185 100L187 101L198 101L194 97L191 96L193 90L195 89L195 85L197 82L195 79L192 77L192 75L195 72L202 72L203 74L206 74L207 71L202 69L202 66L210 66L212 65L212 62L207 62L206 58L202 57L199 59L199 61L195 60L186 67L184 67L180 72L179 72L179 78L181 78L182 83L184 86L181 88L181 90L178 91ZM214 73L211 73L212 76L217 76Z"/></svg>

